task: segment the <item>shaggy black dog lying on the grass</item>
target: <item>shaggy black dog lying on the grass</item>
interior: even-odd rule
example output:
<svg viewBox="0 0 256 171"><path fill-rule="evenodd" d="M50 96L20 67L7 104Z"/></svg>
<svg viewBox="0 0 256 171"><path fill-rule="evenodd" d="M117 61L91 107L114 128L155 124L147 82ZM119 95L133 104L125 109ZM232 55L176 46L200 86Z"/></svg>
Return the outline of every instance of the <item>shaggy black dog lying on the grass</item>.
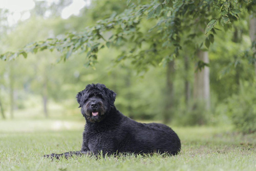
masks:
<svg viewBox="0 0 256 171"><path fill-rule="evenodd" d="M104 84L88 84L76 96L86 119L81 151L50 154L64 155L131 153L168 153L180 151L180 140L168 126L160 123L139 123L124 116L115 106L116 93Z"/></svg>

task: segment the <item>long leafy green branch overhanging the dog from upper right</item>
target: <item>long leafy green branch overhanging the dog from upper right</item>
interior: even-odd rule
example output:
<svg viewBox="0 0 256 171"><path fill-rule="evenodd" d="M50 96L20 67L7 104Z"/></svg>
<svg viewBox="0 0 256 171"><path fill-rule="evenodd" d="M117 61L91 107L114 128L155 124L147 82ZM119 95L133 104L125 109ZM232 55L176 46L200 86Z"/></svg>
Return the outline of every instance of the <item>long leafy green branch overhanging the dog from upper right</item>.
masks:
<svg viewBox="0 0 256 171"><path fill-rule="evenodd" d="M249 4L250 0L244 1ZM130 5L129 5L130 4ZM194 49L202 48L203 42L209 48L214 42L214 35L209 34L201 42L194 43L193 38L199 36L206 22L214 18L218 12L219 19L212 19L206 26L205 33L209 31L216 34L215 25L220 21L221 25L231 23L230 20L240 20L238 14L238 1L169 1L153 0L146 4L135 4L127 1L129 8L116 15L113 13L109 18L99 20L92 27L83 31L70 32L58 38L48 38L45 41L38 41L28 44L18 52L6 52L1 55L3 60L12 60L27 53L36 53L39 50L54 49L63 55L60 60L67 60L73 52L87 52L87 66L95 69L98 51L104 47L123 46L130 42L128 49L123 49L116 58L116 62L130 58L136 65L138 71L147 70L148 65L165 65L179 55L179 51L189 42L194 44ZM232 16L234 16L232 18ZM152 20L152 24L142 33L143 21ZM155 24L154 24L155 23ZM191 27L199 25L197 27ZM202 26L200 26L202 25ZM188 36L182 36L185 32ZM108 33L108 34L107 34ZM200 37L200 36L199 36ZM146 44L146 45L145 45ZM144 45L144 46L143 46ZM198 68L207 65L200 62Z"/></svg>

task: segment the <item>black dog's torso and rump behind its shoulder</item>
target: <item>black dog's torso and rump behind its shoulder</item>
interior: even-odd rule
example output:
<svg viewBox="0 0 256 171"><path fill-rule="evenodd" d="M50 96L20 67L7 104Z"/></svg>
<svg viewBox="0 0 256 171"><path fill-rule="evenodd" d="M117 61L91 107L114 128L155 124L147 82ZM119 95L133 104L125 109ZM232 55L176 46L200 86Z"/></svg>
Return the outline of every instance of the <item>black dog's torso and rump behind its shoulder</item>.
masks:
<svg viewBox="0 0 256 171"><path fill-rule="evenodd" d="M126 116L121 122L123 141L119 152L134 153L169 153L180 151L180 139L168 126L161 123L140 123Z"/></svg>

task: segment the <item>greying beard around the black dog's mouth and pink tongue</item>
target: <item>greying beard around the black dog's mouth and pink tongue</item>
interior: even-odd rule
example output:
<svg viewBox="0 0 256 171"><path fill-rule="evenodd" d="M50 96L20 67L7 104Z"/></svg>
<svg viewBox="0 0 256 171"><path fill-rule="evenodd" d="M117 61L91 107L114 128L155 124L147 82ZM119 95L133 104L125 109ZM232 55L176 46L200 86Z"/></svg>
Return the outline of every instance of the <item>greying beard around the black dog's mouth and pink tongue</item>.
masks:
<svg viewBox="0 0 256 171"><path fill-rule="evenodd" d="M91 107L90 103L85 105L85 115L86 119L88 119L92 123L100 122L105 117L105 113L107 108L104 107L102 103L99 103L96 108Z"/></svg>

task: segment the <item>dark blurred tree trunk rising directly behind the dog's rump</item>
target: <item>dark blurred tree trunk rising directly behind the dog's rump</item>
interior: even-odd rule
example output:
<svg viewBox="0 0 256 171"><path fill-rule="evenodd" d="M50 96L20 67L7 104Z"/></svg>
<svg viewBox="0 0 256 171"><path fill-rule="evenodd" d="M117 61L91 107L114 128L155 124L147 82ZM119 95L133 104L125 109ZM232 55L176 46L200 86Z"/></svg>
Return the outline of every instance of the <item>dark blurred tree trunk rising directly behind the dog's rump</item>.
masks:
<svg viewBox="0 0 256 171"><path fill-rule="evenodd" d="M163 122L168 123L173 109L174 103L174 90L173 90L173 80L174 80L174 61L170 61L167 64L167 73L166 73L166 106L163 113Z"/></svg>

